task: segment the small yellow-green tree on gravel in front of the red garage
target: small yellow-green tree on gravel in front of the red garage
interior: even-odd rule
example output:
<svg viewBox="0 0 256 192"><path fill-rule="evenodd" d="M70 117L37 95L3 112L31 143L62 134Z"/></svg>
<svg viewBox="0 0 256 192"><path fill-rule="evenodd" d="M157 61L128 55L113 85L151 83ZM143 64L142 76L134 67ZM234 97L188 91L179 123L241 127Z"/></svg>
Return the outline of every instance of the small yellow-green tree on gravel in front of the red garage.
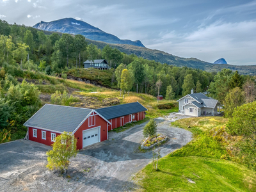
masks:
<svg viewBox="0 0 256 192"><path fill-rule="evenodd" d="M52 150L46 152L47 168L49 170L60 170L61 173L66 173L70 164L70 159L76 157L77 139L72 132L63 132L56 137L56 141L51 145Z"/></svg>

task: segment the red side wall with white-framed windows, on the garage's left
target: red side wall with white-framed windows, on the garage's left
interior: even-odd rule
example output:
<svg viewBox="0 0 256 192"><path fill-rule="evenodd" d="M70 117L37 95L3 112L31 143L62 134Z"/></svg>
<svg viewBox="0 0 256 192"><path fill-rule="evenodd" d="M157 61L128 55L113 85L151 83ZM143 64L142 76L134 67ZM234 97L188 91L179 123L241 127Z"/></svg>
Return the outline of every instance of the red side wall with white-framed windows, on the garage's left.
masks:
<svg viewBox="0 0 256 192"><path fill-rule="evenodd" d="M29 140L31 141L36 141L38 143L43 143L45 145L52 145L52 138L51 138L51 132L52 133L55 133L56 134L56 137L58 135L60 135L60 133L58 132L54 132L54 131L46 131L44 129L36 129L37 130L37 137L33 137L33 129L36 129L36 128L33 128L33 127L29 127L28 128L28 136L29 136ZM42 131L45 131L46 132L46 140L42 140Z"/></svg>

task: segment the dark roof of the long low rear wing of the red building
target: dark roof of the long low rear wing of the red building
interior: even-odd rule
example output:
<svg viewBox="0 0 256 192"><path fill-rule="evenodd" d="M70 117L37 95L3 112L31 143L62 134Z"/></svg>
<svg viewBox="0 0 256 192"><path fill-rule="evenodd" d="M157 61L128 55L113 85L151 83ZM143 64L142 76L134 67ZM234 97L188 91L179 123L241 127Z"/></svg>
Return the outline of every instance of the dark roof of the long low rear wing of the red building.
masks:
<svg viewBox="0 0 256 192"><path fill-rule="evenodd" d="M118 106L111 106L108 108L95 109L100 115L104 116L106 119L111 120L119 116L130 115L132 113L138 113L141 111L147 111L147 109L142 106L139 102L132 102L127 104L122 104Z"/></svg>

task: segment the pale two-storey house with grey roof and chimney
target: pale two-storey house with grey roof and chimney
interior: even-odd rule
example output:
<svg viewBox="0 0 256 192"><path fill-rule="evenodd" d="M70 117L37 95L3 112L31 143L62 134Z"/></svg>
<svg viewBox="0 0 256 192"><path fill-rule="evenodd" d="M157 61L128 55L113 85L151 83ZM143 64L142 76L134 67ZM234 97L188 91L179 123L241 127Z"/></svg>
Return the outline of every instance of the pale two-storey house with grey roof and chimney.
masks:
<svg viewBox="0 0 256 192"><path fill-rule="evenodd" d="M203 93L188 94L181 99L179 102L179 113L190 116L205 116L205 115L217 115L218 100L207 97Z"/></svg>

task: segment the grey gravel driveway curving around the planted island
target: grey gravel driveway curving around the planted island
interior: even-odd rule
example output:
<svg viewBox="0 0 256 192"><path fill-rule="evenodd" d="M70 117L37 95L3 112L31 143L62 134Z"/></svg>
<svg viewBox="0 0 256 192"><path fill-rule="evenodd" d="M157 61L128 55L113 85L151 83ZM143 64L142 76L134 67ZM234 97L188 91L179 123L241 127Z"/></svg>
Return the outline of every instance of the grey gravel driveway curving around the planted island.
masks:
<svg viewBox="0 0 256 192"><path fill-rule="evenodd" d="M170 120L157 119L157 132L168 136L160 147L161 157L192 140L184 129L170 127ZM45 152L51 147L17 140L0 145L0 191L131 191L131 177L150 163L152 151L140 152L143 127L109 132L109 140L90 145L71 159L66 175L45 168Z"/></svg>

